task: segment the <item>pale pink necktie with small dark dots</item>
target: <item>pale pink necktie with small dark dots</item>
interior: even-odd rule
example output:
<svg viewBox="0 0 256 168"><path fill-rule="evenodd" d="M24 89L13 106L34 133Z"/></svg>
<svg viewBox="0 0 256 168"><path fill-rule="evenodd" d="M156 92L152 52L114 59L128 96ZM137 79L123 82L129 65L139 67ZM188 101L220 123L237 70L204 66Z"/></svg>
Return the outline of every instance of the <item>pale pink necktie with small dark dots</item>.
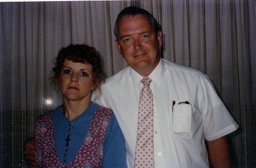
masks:
<svg viewBox="0 0 256 168"><path fill-rule="evenodd" d="M154 118L153 94L149 87L152 79L143 78L144 87L139 97L139 116L137 143L135 151L135 168L154 167Z"/></svg>

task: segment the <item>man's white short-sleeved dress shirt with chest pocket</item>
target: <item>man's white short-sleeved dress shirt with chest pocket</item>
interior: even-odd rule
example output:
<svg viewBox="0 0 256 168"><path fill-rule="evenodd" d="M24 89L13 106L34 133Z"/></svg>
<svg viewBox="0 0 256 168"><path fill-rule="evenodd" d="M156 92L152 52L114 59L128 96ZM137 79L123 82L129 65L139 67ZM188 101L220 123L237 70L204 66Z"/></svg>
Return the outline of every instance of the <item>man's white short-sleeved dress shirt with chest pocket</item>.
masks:
<svg viewBox="0 0 256 168"><path fill-rule="evenodd" d="M235 131L238 125L208 76L161 59L148 77L152 79L150 88L154 98L155 167L209 167L204 140L218 139ZM113 109L125 137L127 166L131 168L134 167L142 78L127 67L106 80L102 95L96 100ZM94 97L95 94L92 100Z"/></svg>

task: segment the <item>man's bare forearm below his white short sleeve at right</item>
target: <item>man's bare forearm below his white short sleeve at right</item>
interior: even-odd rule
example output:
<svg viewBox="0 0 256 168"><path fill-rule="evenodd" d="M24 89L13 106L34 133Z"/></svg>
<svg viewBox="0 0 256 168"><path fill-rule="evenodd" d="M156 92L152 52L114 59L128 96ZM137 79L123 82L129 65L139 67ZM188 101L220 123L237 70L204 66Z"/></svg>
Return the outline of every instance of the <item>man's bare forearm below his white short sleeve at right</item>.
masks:
<svg viewBox="0 0 256 168"><path fill-rule="evenodd" d="M230 167L230 152L228 140L225 136L207 141L211 167Z"/></svg>

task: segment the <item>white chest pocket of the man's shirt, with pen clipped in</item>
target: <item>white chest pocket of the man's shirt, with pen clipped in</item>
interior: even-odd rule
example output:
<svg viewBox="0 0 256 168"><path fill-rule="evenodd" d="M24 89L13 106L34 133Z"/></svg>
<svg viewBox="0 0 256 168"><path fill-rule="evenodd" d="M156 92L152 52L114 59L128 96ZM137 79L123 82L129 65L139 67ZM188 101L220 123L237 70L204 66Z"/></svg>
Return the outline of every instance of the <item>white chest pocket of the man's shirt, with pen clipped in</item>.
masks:
<svg viewBox="0 0 256 168"><path fill-rule="evenodd" d="M192 105L174 105L172 115L172 132L174 135L189 136L192 128Z"/></svg>

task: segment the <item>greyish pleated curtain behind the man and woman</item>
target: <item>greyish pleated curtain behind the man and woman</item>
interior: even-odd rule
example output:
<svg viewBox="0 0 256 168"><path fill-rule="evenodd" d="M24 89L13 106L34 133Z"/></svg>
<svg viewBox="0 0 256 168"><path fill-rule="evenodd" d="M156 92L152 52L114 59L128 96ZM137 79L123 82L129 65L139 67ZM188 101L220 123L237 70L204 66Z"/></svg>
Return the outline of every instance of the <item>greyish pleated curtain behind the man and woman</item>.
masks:
<svg viewBox="0 0 256 168"><path fill-rule="evenodd" d="M0 167L27 166L23 144L35 135L36 118L61 103L48 80L60 48L94 46L105 77L127 66L113 31L131 5L162 25L165 59L212 79L241 127L230 136L233 167L256 166L256 1L152 0L0 3Z"/></svg>

